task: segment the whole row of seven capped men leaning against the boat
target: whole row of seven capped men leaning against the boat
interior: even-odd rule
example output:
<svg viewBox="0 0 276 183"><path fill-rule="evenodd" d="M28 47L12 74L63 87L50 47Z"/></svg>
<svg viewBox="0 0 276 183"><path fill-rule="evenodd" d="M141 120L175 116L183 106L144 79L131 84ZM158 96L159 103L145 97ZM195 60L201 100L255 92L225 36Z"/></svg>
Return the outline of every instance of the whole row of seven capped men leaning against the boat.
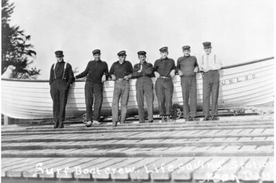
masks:
<svg viewBox="0 0 276 183"><path fill-rule="evenodd" d="M117 54L119 61L112 64L108 72L108 65L101 61L101 51L92 52L95 60L88 62L86 69L73 76L72 67L63 61L63 52L57 51L57 63L50 69L50 94L53 100L54 128L63 128L65 120L65 109L68 98L68 89L77 78L86 76L85 98L86 98L86 127L92 124L100 124L99 117L103 102L103 82L114 80L115 87L112 99L112 126L117 122L124 123L130 92L130 78L137 78L136 99L138 103L139 122L145 122L144 96L148 106L148 122L153 122L153 83L152 76L157 78L155 92L158 100L159 115L161 122L170 121L172 107L173 83L172 78L178 72L181 77L181 88L183 96L183 114L186 120L195 120L197 112L197 83L196 73L203 72L203 114L204 120L215 120L217 116L217 100L219 96L219 72L221 61L216 54L211 52L211 43L204 42L206 54L197 62L195 56L190 56L190 46L182 47L184 56L177 59L177 66L172 58L168 58L168 47L161 47L161 58L155 64L146 62L146 52L137 52L139 63L132 67L126 61L126 51ZM212 114L210 116L210 95L212 95ZM92 105L94 102L94 111ZM121 98L121 114L119 114L119 100ZM188 105L190 99L190 106Z"/></svg>

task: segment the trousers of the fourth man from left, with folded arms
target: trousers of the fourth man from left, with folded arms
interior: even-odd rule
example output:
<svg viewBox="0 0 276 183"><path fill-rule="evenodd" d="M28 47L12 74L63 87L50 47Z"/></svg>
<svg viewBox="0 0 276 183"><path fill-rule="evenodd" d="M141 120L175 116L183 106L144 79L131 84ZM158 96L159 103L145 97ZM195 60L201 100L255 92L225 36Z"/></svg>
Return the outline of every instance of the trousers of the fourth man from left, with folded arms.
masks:
<svg viewBox="0 0 276 183"><path fill-rule="evenodd" d="M145 122L144 95L148 105L148 120L153 120L153 83L151 78L141 76L136 81L136 99L138 103L139 122Z"/></svg>

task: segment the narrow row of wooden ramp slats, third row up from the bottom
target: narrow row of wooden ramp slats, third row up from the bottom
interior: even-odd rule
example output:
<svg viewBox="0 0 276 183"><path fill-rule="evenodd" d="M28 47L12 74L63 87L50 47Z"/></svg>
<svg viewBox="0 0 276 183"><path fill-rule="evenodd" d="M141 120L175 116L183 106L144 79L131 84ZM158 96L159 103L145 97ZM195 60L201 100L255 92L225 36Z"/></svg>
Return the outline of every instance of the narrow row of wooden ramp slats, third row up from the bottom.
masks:
<svg viewBox="0 0 276 183"><path fill-rule="evenodd" d="M273 136L273 131L267 131L266 129L249 129L245 131L239 129L227 130L227 129L215 129L215 130L190 130L190 131L179 131L177 133L171 133L171 131L150 131L150 132L115 132L114 137L109 133L76 133L68 137L68 133L55 135L30 135L30 136L3 136L1 142L12 143L12 142L66 142L66 141L99 141L99 140L148 140L148 139L190 139L190 138L241 138L241 137L269 137ZM256 133L255 131L259 131ZM273 130L273 129L271 129ZM124 136L121 136L124 134Z"/></svg>

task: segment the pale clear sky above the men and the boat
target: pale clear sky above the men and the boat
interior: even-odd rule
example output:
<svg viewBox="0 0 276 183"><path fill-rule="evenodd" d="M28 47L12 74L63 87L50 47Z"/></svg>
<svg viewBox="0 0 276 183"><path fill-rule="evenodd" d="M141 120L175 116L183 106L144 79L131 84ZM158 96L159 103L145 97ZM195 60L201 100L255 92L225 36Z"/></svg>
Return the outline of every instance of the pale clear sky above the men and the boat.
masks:
<svg viewBox="0 0 276 183"><path fill-rule="evenodd" d="M37 56L32 66L48 79L56 62L55 51L80 72L101 50L101 60L112 63L126 50L132 65L137 52L147 52L148 62L168 57L177 61L181 47L201 58L202 43L210 41L222 65L274 56L273 0L11 0L12 25L30 34Z"/></svg>

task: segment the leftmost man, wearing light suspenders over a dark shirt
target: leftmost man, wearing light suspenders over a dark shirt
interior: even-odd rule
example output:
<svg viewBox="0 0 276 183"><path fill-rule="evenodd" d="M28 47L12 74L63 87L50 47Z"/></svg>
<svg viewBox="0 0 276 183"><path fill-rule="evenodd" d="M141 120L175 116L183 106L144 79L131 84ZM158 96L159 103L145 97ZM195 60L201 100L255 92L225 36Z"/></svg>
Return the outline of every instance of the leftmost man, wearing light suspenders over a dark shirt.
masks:
<svg viewBox="0 0 276 183"><path fill-rule="evenodd" d="M50 69L49 83L56 129L63 128L69 87L74 82L74 74L71 65L63 61L63 52L57 51L55 55L57 63Z"/></svg>

